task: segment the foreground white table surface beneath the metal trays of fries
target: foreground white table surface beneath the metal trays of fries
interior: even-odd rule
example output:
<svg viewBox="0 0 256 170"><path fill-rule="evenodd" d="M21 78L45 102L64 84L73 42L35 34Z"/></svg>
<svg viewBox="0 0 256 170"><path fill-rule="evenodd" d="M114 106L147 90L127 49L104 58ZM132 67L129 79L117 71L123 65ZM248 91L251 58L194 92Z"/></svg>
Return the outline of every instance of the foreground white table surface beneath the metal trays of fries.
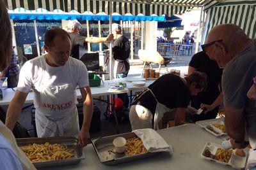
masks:
<svg viewBox="0 0 256 170"><path fill-rule="evenodd" d="M173 146L173 156L166 154L156 155L147 159L136 160L116 166L106 166L99 162L97 153L90 144L84 147L85 159L79 164L70 166L56 166L42 169L86 169L86 170L110 170L110 169L139 169L139 170L164 170L164 169L233 169L223 166L201 157L202 150L207 142L221 144L222 140L212 136L209 132L196 124L181 125L169 129L162 129L159 134L165 141Z"/></svg>

